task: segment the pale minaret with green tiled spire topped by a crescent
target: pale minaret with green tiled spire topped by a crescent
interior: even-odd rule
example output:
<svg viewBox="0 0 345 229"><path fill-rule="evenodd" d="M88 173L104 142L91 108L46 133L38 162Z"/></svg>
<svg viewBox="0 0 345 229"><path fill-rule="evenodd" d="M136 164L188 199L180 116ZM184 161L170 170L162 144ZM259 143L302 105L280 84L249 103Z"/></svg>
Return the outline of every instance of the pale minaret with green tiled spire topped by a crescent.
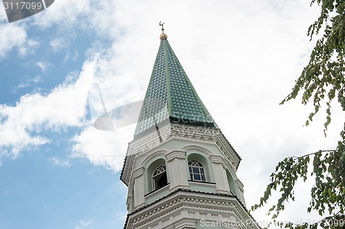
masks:
<svg viewBox="0 0 345 229"><path fill-rule="evenodd" d="M241 159L159 25L161 43L121 172L124 228L259 228L236 176Z"/></svg>

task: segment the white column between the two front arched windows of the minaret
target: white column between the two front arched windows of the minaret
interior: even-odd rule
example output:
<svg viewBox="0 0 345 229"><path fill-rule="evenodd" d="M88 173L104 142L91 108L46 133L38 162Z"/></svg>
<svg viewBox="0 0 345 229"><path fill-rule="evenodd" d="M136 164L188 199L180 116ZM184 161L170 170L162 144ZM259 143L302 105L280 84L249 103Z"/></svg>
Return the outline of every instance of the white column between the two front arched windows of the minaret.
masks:
<svg viewBox="0 0 345 229"><path fill-rule="evenodd" d="M167 172L170 183L170 191L179 188L190 189L186 169L186 151L173 150L166 153Z"/></svg>

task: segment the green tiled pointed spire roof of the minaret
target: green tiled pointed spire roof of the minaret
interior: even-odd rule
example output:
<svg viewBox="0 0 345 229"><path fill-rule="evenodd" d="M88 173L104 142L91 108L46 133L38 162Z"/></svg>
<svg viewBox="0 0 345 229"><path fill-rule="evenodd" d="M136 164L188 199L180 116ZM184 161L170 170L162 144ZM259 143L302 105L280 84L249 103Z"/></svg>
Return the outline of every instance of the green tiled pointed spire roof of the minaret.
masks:
<svg viewBox="0 0 345 229"><path fill-rule="evenodd" d="M186 72L161 34L155 66L141 108L135 136L164 121L218 128L199 99Z"/></svg>

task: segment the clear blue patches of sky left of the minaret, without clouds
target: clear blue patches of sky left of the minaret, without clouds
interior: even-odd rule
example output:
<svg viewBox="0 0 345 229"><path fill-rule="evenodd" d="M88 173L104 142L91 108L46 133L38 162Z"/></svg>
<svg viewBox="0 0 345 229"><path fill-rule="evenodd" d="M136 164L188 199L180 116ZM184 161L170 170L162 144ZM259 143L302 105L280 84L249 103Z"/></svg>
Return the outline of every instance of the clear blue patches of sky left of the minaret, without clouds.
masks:
<svg viewBox="0 0 345 229"><path fill-rule="evenodd" d="M25 94L44 97L66 82L68 75L73 77L68 83L75 83L88 59L86 50L95 43L95 34L59 26L40 28L31 18L13 24L26 32L26 41L0 59L1 105L15 107ZM0 30L6 26L11 25L2 18ZM12 36L16 33L5 39ZM33 45L27 47L30 40ZM97 41L103 46L111 44L106 39ZM21 51L24 48L27 50ZM36 112L40 110L33 115ZM85 117L88 122L90 115ZM0 228L121 228L126 190L119 173L94 166L87 159L70 161L70 139L80 128L57 129L36 132L33 128L32 137L41 135L49 142L41 146L29 143L18 154L10 153L12 146L0 146Z"/></svg>

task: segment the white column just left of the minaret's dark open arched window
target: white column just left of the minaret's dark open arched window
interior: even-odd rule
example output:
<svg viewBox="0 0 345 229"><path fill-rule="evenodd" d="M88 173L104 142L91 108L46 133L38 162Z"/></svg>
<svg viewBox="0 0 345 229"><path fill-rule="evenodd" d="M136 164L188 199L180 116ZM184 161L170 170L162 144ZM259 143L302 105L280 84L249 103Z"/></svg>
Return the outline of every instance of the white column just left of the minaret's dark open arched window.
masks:
<svg viewBox="0 0 345 229"><path fill-rule="evenodd" d="M144 168L137 168L132 172L134 179L134 208L145 206L144 197Z"/></svg>

